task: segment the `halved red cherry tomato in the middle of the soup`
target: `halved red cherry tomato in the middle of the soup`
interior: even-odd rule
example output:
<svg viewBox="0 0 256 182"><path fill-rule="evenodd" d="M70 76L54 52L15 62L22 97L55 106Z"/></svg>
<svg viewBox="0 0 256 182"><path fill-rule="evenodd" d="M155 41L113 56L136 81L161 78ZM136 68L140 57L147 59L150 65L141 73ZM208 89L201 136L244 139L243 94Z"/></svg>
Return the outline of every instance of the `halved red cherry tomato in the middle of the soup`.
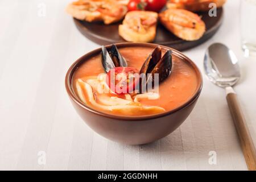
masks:
<svg viewBox="0 0 256 182"><path fill-rule="evenodd" d="M109 88L118 94L133 93L139 83L139 72L132 67L116 67L107 74Z"/></svg>

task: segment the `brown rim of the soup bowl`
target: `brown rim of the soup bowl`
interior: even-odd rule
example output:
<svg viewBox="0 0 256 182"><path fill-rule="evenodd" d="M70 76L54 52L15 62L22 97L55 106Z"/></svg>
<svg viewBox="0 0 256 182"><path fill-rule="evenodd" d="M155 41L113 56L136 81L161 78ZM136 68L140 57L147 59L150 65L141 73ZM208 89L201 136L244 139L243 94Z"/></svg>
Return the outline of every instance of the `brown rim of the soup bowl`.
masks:
<svg viewBox="0 0 256 182"><path fill-rule="evenodd" d="M154 43L129 43L129 42L125 42L125 43L116 43L115 45L118 48L122 48L122 47L151 47L151 48L154 48L156 46L160 46L164 49L171 49L173 51L173 53L175 54L175 56L182 57L195 70L196 75L198 77L198 81L199 81L199 84L197 85L196 91L193 94L193 96L191 98L189 98L188 101L184 102L183 105L180 105L179 107L176 107L175 109L172 109L172 110L166 111L164 113L160 113L160 114L142 115L142 116L138 116L138 115L136 115L136 116L125 116L125 115L108 114L108 113L104 113L102 111L92 109L89 106L86 106L85 104L83 104L82 101L80 101L79 98L77 98L76 94L73 92L72 78L73 78L73 73L76 71L77 68L79 68L79 66L82 63L84 63L85 60L88 60L88 58L90 58L92 56L96 56L100 53L101 47L99 47L97 49L94 49L93 51L90 51L90 52L86 53L85 55L81 56L79 59L77 59L75 61L75 63L73 63L71 65L71 67L69 67L68 72L65 76L65 88L67 90L67 93L68 93L69 97L77 105L79 105L83 109L85 109L87 111L90 111L91 113L101 115L102 117L111 118L111 119L118 119L120 121L143 121L143 120L148 120L148 119L155 119L155 118L165 117L166 115L175 113L176 111L179 111L179 110L184 109L185 107L189 106L190 104L192 104L193 101L195 101L199 97L199 95L201 93L201 90L203 88L203 77L201 75L200 69L196 66L196 64L193 63L193 61L191 59L189 59L187 56L183 55L183 53L181 53L181 52L179 52L176 49L173 49L171 47L162 46L162 45L154 44ZM112 44L109 44L105 47L109 48L110 46L112 46Z"/></svg>

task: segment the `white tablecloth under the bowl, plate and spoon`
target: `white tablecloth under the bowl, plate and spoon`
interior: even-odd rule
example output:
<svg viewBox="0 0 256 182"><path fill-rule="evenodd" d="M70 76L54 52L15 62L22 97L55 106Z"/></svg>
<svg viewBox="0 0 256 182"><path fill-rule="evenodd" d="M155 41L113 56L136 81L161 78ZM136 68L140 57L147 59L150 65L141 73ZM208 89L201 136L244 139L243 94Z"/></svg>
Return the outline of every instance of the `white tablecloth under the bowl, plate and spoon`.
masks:
<svg viewBox="0 0 256 182"><path fill-rule="evenodd" d="M68 2L0 1L0 169L247 169L225 91L205 76L191 115L157 142L119 144L86 126L68 99L64 77L78 57L99 46L84 38L65 13ZM243 75L235 89L256 142L256 60L242 56L239 2L225 5L224 23L212 39L184 54L204 73L210 44L233 49ZM216 152L216 164L209 163L209 152Z"/></svg>

